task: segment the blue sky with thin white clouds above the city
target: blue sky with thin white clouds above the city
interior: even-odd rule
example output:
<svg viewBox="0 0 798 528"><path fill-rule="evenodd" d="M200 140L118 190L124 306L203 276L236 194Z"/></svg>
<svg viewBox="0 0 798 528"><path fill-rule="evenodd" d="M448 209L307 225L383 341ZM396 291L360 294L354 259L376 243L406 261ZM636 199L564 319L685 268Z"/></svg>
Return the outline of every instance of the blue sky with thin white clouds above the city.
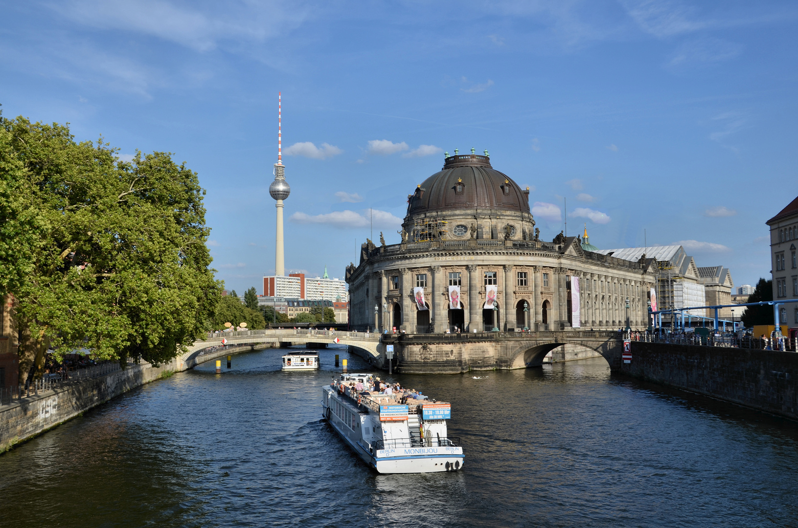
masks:
<svg viewBox="0 0 798 528"><path fill-rule="evenodd" d="M69 123L123 159L173 152L207 189L216 276L342 278L397 230L444 152L488 150L541 237L681 244L770 278L764 222L798 195L798 4L2 2L3 116ZM566 207L567 205L567 207ZM373 230L373 231L372 231ZM373 237L372 237L373 232Z"/></svg>

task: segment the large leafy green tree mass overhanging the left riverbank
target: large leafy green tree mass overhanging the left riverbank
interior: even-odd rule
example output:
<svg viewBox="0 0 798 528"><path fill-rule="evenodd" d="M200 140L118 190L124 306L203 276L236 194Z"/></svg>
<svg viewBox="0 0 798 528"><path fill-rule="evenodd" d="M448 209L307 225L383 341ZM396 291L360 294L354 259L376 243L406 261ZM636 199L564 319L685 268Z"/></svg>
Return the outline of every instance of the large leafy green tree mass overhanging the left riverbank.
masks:
<svg viewBox="0 0 798 528"><path fill-rule="evenodd" d="M167 361L215 311L196 173L168 152L116 152L0 117L0 293L14 297L21 380L47 345Z"/></svg>

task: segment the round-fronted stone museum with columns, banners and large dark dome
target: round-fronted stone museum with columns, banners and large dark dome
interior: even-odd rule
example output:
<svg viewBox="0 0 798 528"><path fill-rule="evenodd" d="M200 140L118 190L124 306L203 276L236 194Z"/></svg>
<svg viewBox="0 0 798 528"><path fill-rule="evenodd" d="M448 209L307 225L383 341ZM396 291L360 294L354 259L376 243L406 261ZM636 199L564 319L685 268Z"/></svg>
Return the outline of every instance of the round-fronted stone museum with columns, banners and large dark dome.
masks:
<svg viewBox="0 0 798 528"><path fill-rule="evenodd" d="M529 187L496 171L487 151L447 155L408 195L401 243L380 238L346 268L353 329L619 329L627 317L632 329L648 326L654 259L594 253L562 233L544 242Z"/></svg>

